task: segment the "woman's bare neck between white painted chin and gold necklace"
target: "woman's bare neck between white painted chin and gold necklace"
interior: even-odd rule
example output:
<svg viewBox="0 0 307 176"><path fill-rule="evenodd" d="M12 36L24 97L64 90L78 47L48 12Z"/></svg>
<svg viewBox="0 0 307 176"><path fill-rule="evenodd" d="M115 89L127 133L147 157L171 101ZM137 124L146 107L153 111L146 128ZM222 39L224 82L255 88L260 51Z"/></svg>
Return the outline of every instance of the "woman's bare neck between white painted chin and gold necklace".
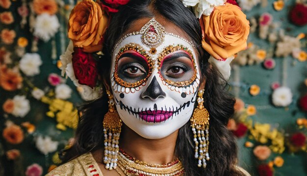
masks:
<svg viewBox="0 0 307 176"><path fill-rule="evenodd" d="M176 159L178 130L162 139L145 139L123 124L119 146L130 156L150 164L166 164Z"/></svg>

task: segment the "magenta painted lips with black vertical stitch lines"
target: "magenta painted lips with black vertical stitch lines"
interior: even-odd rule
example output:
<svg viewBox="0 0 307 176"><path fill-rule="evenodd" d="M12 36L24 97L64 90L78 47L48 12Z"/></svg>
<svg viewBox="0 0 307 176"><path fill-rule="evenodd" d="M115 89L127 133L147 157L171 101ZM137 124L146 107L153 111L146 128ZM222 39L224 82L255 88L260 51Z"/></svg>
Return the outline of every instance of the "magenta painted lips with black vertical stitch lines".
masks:
<svg viewBox="0 0 307 176"><path fill-rule="evenodd" d="M167 120L169 117L173 116L173 112L170 111L161 111L161 110L157 110L157 111L142 111L139 112L139 116L147 121L147 122L161 122L161 121L165 121Z"/></svg>

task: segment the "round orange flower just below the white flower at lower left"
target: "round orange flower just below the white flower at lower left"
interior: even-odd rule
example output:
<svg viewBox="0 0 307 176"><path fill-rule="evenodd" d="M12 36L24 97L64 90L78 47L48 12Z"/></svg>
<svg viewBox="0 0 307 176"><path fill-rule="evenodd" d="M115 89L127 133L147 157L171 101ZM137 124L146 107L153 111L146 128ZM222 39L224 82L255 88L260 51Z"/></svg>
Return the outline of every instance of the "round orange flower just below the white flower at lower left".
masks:
<svg viewBox="0 0 307 176"><path fill-rule="evenodd" d="M20 144L24 140L23 130L15 124L4 128L2 136L10 144Z"/></svg>

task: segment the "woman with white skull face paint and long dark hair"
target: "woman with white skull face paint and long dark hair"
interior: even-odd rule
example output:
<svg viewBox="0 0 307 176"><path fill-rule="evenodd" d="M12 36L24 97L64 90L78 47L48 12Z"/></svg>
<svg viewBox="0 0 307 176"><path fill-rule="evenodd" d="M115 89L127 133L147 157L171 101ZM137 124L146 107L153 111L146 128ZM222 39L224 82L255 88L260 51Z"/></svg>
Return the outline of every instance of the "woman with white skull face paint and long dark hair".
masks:
<svg viewBox="0 0 307 176"><path fill-rule="evenodd" d="M235 101L201 43L179 0L120 7L99 59L106 91L80 109L76 141L48 176L248 175L226 128Z"/></svg>

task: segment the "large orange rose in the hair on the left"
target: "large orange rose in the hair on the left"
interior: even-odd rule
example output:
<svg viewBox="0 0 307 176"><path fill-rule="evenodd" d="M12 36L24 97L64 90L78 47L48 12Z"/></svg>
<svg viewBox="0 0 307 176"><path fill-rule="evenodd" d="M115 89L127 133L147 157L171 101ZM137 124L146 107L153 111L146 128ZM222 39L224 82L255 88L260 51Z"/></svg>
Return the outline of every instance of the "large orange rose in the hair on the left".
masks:
<svg viewBox="0 0 307 176"><path fill-rule="evenodd" d="M70 14L68 37L75 47L83 48L84 52L101 51L101 40L107 24L108 18L99 3L82 0Z"/></svg>

